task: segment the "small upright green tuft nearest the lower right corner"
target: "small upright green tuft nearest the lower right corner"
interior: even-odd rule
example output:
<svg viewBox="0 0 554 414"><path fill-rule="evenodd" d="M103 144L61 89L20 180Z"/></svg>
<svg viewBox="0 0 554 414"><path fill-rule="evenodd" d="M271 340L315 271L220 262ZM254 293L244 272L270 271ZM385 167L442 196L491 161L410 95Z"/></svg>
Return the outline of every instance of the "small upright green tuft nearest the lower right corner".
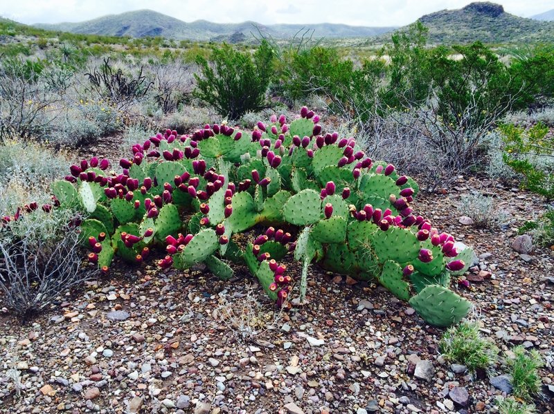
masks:
<svg viewBox="0 0 554 414"><path fill-rule="evenodd" d="M512 352L514 357L506 359L508 373L512 376L512 393L528 401L540 391L539 368L544 362L535 349L527 352L523 346L516 346Z"/></svg>

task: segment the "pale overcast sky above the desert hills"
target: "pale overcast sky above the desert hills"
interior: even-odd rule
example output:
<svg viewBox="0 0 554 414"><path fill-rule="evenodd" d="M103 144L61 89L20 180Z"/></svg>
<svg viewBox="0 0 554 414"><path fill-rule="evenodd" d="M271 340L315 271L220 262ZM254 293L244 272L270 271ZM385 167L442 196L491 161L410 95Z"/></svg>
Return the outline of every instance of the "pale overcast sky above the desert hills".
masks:
<svg viewBox="0 0 554 414"><path fill-rule="evenodd" d="M103 15L150 8L183 21L220 23L346 23L403 26L438 10L471 0L0 0L0 15L21 23L83 21ZM554 8L554 0L497 1L507 12L529 17Z"/></svg>

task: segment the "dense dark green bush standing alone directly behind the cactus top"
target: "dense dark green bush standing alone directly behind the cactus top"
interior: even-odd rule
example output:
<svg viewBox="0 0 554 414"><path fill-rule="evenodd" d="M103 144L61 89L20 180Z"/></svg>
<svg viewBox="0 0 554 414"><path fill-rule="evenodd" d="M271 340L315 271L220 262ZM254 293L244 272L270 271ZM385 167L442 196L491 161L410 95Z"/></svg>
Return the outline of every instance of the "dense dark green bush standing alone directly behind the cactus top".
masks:
<svg viewBox="0 0 554 414"><path fill-rule="evenodd" d="M213 49L211 62L198 56L202 71L195 74L195 97L217 109L218 113L237 120L248 111L267 108L266 92L274 77L274 52L262 41L252 55L224 44Z"/></svg>

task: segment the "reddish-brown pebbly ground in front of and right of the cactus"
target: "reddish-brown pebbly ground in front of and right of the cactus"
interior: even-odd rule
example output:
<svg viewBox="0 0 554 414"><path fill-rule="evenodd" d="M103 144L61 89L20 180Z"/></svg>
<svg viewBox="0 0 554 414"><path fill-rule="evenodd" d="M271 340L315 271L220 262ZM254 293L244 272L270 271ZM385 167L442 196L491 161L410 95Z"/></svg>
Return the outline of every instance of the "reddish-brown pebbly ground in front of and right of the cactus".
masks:
<svg viewBox="0 0 554 414"><path fill-rule="evenodd" d="M461 224L454 206L474 189L511 222ZM536 200L470 178L417 206L475 248L470 288L458 292L502 350L541 352L536 404L551 413L554 252L512 249ZM224 283L202 270L115 268L26 323L1 317L0 413L488 413L510 391L501 365L472 378L444 361L443 330L373 284L313 267L310 303L279 313L242 272Z"/></svg>

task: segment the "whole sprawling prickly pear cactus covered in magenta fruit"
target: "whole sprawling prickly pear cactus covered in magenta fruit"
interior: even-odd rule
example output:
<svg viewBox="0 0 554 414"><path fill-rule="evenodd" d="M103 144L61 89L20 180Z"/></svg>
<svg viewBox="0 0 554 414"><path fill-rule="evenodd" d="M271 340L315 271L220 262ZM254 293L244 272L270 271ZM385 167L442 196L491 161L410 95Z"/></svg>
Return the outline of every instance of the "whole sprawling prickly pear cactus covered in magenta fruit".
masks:
<svg viewBox="0 0 554 414"><path fill-rule="evenodd" d="M225 124L167 130L135 144L120 173L106 160L83 160L52 191L89 214L83 245L104 270L114 254L141 262L158 245L162 268L205 263L226 280L229 263L243 263L282 305L293 280L283 261L298 260L301 299L318 263L378 281L436 326L460 321L471 305L448 290L449 274L469 263L456 258L452 236L414 214L418 185L318 122L303 108L292 122L274 115L252 133ZM251 243L235 241L251 229L261 232Z"/></svg>

